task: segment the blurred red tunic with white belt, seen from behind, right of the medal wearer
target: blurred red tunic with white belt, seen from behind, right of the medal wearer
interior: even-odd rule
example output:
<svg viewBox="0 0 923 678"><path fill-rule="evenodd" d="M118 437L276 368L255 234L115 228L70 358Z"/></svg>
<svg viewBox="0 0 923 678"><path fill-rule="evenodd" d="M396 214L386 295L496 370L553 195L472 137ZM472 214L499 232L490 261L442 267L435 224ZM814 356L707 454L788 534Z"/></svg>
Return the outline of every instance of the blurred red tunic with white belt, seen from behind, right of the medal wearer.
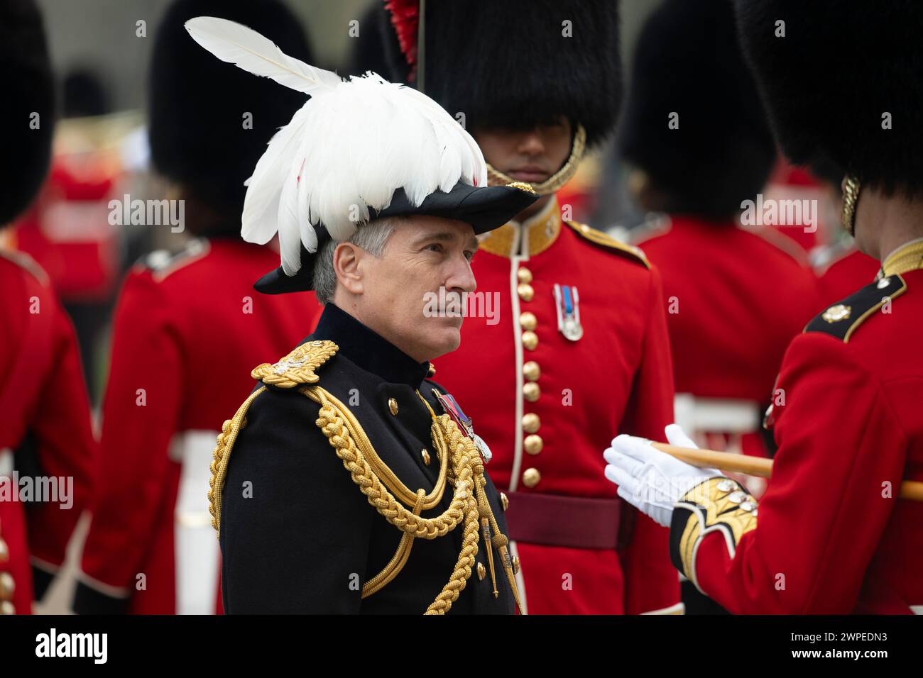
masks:
<svg viewBox="0 0 923 678"><path fill-rule="evenodd" d="M677 422L700 446L766 456L755 432L782 356L821 310L807 256L771 227L683 216L639 245L664 276Z"/></svg>

